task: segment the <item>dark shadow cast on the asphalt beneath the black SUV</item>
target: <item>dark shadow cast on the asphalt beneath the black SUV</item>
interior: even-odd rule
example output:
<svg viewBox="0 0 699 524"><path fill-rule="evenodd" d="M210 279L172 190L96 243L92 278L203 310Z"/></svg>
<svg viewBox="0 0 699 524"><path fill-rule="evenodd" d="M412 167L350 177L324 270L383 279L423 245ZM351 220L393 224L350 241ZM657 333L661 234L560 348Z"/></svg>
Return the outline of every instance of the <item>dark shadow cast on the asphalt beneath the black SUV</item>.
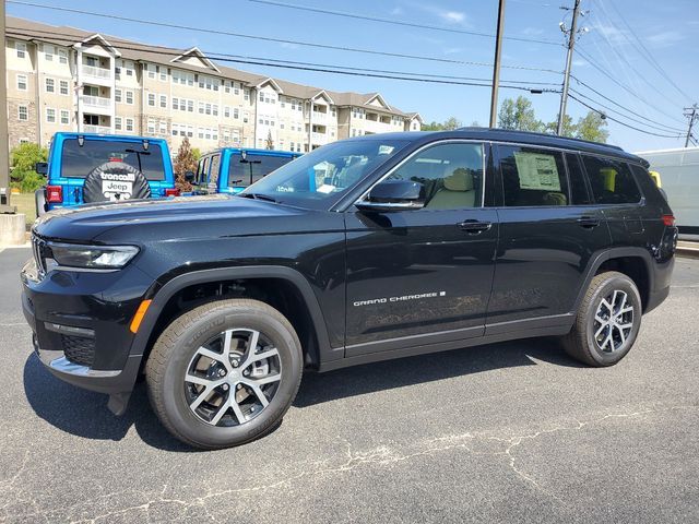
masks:
<svg viewBox="0 0 699 524"><path fill-rule="evenodd" d="M431 355L387 360L328 373L307 373L294 406L323 402L467 376L500 368L535 366L532 358L559 366L582 367L548 338L508 342ZM34 412L48 424L91 440L122 440L133 426L146 444L174 452L197 452L171 437L149 404L145 384L138 383L121 417L107 409L107 396L81 390L51 376L31 355L24 365L24 392ZM275 431L280 425L272 428ZM269 433L268 433L269 434Z"/></svg>

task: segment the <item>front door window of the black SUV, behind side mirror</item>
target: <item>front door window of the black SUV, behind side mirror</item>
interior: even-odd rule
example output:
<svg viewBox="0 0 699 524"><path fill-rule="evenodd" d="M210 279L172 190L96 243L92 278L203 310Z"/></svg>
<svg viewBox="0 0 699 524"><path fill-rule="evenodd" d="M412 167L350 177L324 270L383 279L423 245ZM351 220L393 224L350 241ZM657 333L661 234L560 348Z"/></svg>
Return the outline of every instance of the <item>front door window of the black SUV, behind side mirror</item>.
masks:
<svg viewBox="0 0 699 524"><path fill-rule="evenodd" d="M426 210L481 207L483 145L452 143L417 153L389 178L419 182Z"/></svg>

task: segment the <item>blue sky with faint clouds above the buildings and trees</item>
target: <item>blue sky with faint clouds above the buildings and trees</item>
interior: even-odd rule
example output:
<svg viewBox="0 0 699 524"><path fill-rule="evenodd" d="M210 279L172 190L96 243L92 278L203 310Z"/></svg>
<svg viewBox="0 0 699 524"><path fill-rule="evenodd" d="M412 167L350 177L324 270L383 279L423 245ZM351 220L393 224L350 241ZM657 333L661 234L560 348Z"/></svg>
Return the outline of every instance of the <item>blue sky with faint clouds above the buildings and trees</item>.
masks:
<svg viewBox="0 0 699 524"><path fill-rule="evenodd" d="M198 46L204 52L312 62L335 69L363 68L418 75L483 79L484 82L481 83L489 83L493 76L493 68L487 64L493 63L495 39L463 32L495 34L497 0L274 0L275 3L287 5L430 25L442 31L355 20L254 0L31 1L142 21L196 26L200 29L420 56L431 60L261 41L206 31L157 27L11 1L7 3L7 14L48 24L71 25L153 45L182 49ZM510 85L524 87L560 90L566 48L559 23L562 21L570 26L571 22L570 10L560 7L571 8L572 3L573 0L507 0L506 39L500 73L502 84L510 82ZM697 0L582 0L581 9L585 15L580 19L579 25L585 32L580 34L576 44L582 55L574 56L572 74L599 93L572 80L571 87L588 98L573 96L608 115L609 143L631 152L682 147L684 136L654 136L611 119L663 135L677 136L683 131L686 132L687 119L683 116L683 108L695 102L699 103ZM546 40L553 45L517 38ZM443 121L452 116L464 124L478 122L487 126L489 120L489 87L346 76L237 63L226 66L332 91L379 92L390 105L404 111L418 111L428 122ZM606 73L601 70L606 70ZM543 86L533 84L534 82L552 85ZM532 100L537 118L544 121L556 118L559 94L530 94L526 91L500 88L499 100L518 95L525 95ZM607 109L602 105L607 106ZM567 112L573 120L577 121L588 110L578 102L569 99ZM699 122L696 136L699 139Z"/></svg>

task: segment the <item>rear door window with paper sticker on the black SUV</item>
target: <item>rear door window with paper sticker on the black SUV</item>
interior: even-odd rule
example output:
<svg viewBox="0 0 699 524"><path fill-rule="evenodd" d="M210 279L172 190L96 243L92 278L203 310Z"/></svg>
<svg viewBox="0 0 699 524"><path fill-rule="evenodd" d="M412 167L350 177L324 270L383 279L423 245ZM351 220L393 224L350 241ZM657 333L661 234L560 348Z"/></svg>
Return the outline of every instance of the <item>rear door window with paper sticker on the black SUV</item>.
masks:
<svg viewBox="0 0 699 524"><path fill-rule="evenodd" d="M525 146L500 146L505 205L568 204L562 153Z"/></svg>

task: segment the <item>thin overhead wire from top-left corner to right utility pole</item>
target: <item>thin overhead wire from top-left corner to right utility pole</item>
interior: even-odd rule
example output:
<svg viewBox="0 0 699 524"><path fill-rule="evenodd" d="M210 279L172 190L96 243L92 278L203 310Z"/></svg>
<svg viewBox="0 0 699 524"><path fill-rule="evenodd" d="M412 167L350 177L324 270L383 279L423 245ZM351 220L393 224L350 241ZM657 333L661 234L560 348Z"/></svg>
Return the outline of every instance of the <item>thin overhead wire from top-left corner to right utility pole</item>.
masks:
<svg viewBox="0 0 699 524"><path fill-rule="evenodd" d="M378 55L378 56L393 57L393 58L405 58L405 59L411 59L411 60L425 60L425 61L429 61L429 62L457 63L457 64L461 64L461 66L487 66L487 67L493 67L491 63L488 64L488 63L484 63L484 62L469 62L469 61L465 61L465 60L454 60L454 59L448 59L448 58L436 58L436 57L427 57L427 56L422 56L422 55L407 55L407 53L401 53L401 52L379 51L379 50L376 50L376 49L364 49L364 48L356 48L356 47L342 47L342 46L333 46L333 45L329 45L329 44L316 44L316 43L303 41L303 40L289 40L289 39L284 39L284 38L274 38L274 37L270 37L270 36L248 35L248 34L244 34L244 33L234 33L234 32L229 32L229 31L222 31L222 29L214 29L214 28L206 28L206 27L197 27L197 26L191 26L191 25L174 24L174 23L169 23L169 22L157 22L157 21L153 21L153 20L132 19L132 17L129 17L129 16L120 16L120 15L116 15L116 14L106 14L106 13L97 13L97 12L94 12L94 11L84 11L84 10L72 9L72 8L61 8L61 7L58 7L58 5L46 5L46 4L43 4L43 3L35 3L35 2L28 2L28 1L22 1L22 0L7 0L7 2L8 3L17 4L17 5L28 5L28 7L40 8L40 9L49 9L49 10L54 10L54 11L62 11L62 12L74 13L74 14L83 14L83 15L87 15L87 16L97 16L97 17L109 19L109 20L120 20L120 21L123 21L123 22L132 22L132 23L135 23L135 24L153 25L153 26L157 26L157 27L168 27L168 28L171 28L171 29L183 29L183 31L191 31L191 32L196 32L196 33L225 35L225 36L233 36L235 38L246 38L246 39L261 40L261 41L273 41L273 43L276 43L276 44L292 44L292 45L296 45L296 46L315 47L315 48L319 48L319 49L331 49L333 51L362 52L362 53L365 53L365 55ZM503 66L503 67L507 67L509 69L544 71L544 72L556 73L556 74L560 73L559 71L554 71L554 70L549 70L549 69L526 68L526 67L519 67L519 66L509 66L509 67L508 66Z"/></svg>

